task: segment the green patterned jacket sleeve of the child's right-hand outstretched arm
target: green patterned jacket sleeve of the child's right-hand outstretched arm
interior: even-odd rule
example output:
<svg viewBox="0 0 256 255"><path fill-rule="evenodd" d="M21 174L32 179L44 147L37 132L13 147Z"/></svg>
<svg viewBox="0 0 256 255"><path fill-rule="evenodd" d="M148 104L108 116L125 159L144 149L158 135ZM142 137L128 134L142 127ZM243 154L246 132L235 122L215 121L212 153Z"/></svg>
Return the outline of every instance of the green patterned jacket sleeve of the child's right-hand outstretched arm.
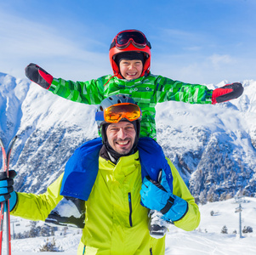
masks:
<svg viewBox="0 0 256 255"><path fill-rule="evenodd" d="M156 79L156 102L180 101L190 104L212 104L213 90L204 85L174 81L166 77Z"/></svg>

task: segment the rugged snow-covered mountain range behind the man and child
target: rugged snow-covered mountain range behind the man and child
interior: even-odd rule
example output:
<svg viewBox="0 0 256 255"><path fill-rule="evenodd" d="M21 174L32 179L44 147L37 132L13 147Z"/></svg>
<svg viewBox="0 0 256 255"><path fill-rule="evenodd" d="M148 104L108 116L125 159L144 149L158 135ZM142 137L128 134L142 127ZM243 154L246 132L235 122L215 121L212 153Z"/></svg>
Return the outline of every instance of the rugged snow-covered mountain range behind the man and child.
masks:
<svg viewBox="0 0 256 255"><path fill-rule="evenodd" d="M202 203L256 194L256 82L242 83L242 97L224 104L156 106L158 143ZM16 189L46 190L73 151L98 135L95 110L0 73L0 137L9 144L19 135L11 158Z"/></svg>

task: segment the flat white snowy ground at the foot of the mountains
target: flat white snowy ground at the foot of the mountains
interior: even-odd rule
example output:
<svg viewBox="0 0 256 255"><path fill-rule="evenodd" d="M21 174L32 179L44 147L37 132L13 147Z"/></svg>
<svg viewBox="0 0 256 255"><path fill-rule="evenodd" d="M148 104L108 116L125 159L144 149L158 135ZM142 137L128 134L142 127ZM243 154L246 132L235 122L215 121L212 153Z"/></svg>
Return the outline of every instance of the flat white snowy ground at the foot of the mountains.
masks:
<svg viewBox="0 0 256 255"><path fill-rule="evenodd" d="M199 205L201 223L191 232L186 232L169 227L166 238L166 255L253 255L256 251L256 198L244 197L242 200L242 229L244 226L253 228L253 233L239 234L239 212L235 212L239 206L235 199L219 201ZM214 212L211 216L211 212ZM17 220L14 227L15 233L29 229L29 221L11 217ZM43 224L43 223L42 223ZM221 234L221 229L226 225L228 234ZM19 229L20 227L20 229ZM56 232L54 239L56 246L61 246L64 252L60 254L76 254L81 237L81 230L68 229L67 235L60 235L62 228ZM236 230L236 234L233 234ZM12 229L13 231L13 229ZM77 234L77 231L79 232ZM12 241L13 255L27 255L38 251L38 248L46 241L46 237L36 237ZM48 237L51 241L53 236ZM3 245L3 254L6 251ZM43 252L43 254L55 254L55 252Z"/></svg>

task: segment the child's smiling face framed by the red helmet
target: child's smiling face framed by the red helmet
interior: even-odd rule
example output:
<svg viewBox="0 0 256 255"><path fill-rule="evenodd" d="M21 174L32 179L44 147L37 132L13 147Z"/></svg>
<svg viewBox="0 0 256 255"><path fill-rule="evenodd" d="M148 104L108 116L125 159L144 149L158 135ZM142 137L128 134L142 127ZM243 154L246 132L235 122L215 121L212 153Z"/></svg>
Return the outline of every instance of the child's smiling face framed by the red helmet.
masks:
<svg viewBox="0 0 256 255"><path fill-rule="evenodd" d="M127 80L134 80L138 79L141 76L143 64L142 61L139 59L122 59L119 63L119 69L122 77Z"/></svg>

